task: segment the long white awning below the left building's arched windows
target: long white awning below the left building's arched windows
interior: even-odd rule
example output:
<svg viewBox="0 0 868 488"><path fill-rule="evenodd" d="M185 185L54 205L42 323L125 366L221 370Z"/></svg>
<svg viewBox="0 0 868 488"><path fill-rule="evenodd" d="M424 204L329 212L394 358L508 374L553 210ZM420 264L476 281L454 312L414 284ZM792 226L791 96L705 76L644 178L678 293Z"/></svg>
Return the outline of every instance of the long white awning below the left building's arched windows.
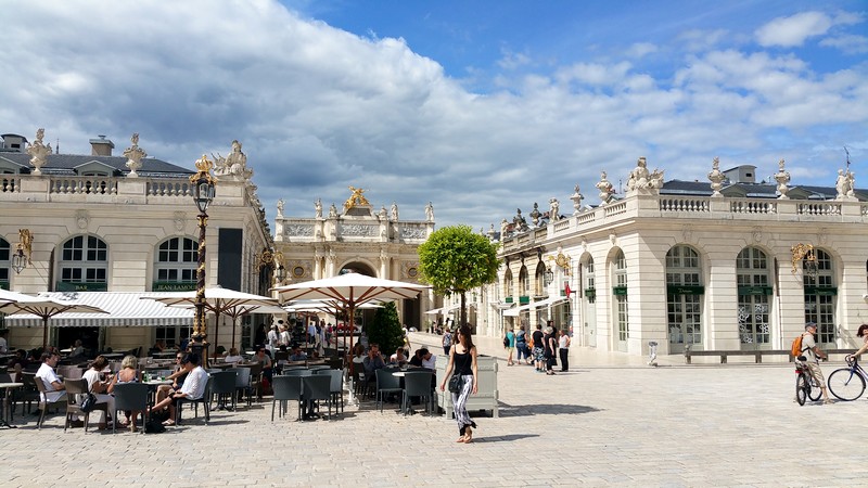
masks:
<svg viewBox="0 0 868 488"><path fill-rule="evenodd" d="M60 313L51 318L54 328L88 326L175 326L192 325L194 309L167 307L158 301L140 299L144 292L50 292L40 296L99 307L108 313ZM10 326L42 326L42 319L22 313L7 316Z"/></svg>

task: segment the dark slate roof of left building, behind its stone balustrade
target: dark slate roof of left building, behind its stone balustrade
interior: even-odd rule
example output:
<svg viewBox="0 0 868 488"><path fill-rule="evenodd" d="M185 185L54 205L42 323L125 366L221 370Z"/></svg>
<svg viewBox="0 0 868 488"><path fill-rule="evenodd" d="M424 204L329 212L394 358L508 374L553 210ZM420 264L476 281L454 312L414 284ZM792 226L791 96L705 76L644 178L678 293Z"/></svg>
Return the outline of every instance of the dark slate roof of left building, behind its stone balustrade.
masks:
<svg viewBox="0 0 868 488"><path fill-rule="evenodd" d="M22 172L29 172L30 155L26 153L2 153L0 159L7 159L22 167ZM124 156L92 156L80 154L49 154L46 157L46 166L42 172L46 175L77 175L75 168L97 162L113 168L120 174L128 174L127 158ZM142 167L137 172L142 177L188 177L194 174L192 169L183 168L171 163L167 163L155 157L145 157L141 160Z"/></svg>

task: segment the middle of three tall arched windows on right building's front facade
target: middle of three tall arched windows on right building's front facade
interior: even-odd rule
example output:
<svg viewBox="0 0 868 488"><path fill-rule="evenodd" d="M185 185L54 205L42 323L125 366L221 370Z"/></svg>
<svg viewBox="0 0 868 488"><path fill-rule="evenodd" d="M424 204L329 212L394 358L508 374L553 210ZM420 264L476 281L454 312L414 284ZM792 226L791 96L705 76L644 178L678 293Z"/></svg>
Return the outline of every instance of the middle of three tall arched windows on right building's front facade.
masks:
<svg viewBox="0 0 868 488"><path fill-rule="evenodd" d="M736 282L739 300L739 339L742 348L770 348L771 271L768 257L762 249L756 247L741 249L736 258Z"/></svg>

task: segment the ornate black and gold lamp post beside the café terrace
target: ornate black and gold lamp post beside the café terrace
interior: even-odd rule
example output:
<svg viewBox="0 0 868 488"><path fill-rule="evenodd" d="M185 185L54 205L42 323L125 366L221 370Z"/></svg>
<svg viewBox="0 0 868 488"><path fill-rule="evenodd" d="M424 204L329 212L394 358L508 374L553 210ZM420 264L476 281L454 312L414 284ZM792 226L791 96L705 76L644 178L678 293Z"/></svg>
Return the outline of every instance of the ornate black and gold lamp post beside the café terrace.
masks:
<svg viewBox="0 0 868 488"><path fill-rule="evenodd" d="M207 349L208 344L205 342L208 337L207 325L205 323L205 228L208 224L208 209L212 200L214 200L214 187L216 181L210 176L210 168L214 163L208 159L204 154L196 160L195 175L190 177L190 182L193 183L193 201L199 208L199 268L196 270L196 314L193 321L193 335L190 337L191 349L202 358L203 365L207 367Z"/></svg>

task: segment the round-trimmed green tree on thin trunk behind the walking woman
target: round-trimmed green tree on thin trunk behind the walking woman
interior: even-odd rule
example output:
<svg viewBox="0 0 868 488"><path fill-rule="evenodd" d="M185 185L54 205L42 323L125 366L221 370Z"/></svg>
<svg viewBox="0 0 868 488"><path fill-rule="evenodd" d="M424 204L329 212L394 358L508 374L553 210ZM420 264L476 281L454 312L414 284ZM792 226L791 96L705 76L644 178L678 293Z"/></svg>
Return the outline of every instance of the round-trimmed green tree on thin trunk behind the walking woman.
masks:
<svg viewBox="0 0 868 488"><path fill-rule="evenodd" d="M444 227L419 246L419 272L434 292L461 296L461 321L468 323L467 292L497 281L497 244L470 226Z"/></svg>

